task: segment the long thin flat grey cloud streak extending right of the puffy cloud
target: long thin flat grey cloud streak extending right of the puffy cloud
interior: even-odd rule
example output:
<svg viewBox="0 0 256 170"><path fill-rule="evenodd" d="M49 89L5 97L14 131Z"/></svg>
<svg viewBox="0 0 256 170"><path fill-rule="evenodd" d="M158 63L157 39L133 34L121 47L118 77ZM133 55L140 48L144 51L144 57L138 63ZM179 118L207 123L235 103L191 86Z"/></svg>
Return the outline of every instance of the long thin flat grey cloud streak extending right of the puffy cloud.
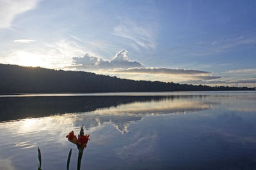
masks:
<svg viewBox="0 0 256 170"><path fill-rule="evenodd" d="M116 73L145 73L145 74L205 74L207 71L193 69L170 69L170 68L132 68L114 71ZM209 76L204 76L205 78ZM213 77L213 76L212 76ZM219 77L216 77L219 78Z"/></svg>

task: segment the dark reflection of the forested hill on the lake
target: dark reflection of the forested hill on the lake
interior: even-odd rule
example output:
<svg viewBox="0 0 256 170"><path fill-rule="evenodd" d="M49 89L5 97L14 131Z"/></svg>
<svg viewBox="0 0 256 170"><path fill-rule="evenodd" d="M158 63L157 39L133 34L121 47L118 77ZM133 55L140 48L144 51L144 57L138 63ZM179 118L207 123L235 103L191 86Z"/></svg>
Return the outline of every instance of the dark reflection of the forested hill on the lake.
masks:
<svg viewBox="0 0 256 170"><path fill-rule="evenodd" d="M167 99L169 102L180 98L191 99L195 97L202 96L0 97L0 121L45 117L63 113L88 112L99 108L116 107L120 104L129 103L148 102L148 106L152 108L150 101ZM166 107L164 106L164 108ZM136 105L134 109L136 109ZM161 108L161 110L163 109Z"/></svg>

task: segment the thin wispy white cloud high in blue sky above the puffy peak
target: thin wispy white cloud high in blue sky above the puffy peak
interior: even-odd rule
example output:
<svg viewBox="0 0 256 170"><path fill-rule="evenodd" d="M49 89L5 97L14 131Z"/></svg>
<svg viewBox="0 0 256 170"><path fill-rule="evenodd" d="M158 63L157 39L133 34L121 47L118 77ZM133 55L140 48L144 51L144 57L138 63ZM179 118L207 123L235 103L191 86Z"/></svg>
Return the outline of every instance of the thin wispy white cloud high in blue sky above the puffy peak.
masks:
<svg viewBox="0 0 256 170"><path fill-rule="evenodd" d="M139 47L147 49L156 48L156 43L154 40L155 31L152 28L152 25L147 26L134 24L134 22L125 22L124 24L114 27L113 34L115 36L130 39ZM132 43L132 46L138 50L138 46L134 45L134 43Z"/></svg>

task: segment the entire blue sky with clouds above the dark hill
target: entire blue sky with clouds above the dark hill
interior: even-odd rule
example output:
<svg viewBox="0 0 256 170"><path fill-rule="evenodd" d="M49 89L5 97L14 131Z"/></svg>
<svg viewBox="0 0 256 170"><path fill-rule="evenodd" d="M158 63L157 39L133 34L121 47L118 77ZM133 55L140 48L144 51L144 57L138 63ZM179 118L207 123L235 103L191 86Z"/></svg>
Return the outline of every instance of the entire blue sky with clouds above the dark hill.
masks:
<svg viewBox="0 0 256 170"><path fill-rule="evenodd" d="M256 86L256 1L0 0L0 63Z"/></svg>

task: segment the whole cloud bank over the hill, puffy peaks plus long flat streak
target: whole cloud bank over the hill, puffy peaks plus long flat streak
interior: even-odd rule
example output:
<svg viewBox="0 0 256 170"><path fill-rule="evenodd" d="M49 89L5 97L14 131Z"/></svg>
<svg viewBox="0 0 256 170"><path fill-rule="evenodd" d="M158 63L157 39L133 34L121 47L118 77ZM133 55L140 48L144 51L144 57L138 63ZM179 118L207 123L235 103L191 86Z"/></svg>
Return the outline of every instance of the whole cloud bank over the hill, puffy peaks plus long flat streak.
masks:
<svg viewBox="0 0 256 170"><path fill-rule="evenodd" d="M104 60L86 53L83 57L73 57L73 65L64 69L93 71L132 80L179 82L186 80L215 80L209 71L195 69L173 69L166 67L143 67L140 62L129 60L127 50L120 50L112 60Z"/></svg>

